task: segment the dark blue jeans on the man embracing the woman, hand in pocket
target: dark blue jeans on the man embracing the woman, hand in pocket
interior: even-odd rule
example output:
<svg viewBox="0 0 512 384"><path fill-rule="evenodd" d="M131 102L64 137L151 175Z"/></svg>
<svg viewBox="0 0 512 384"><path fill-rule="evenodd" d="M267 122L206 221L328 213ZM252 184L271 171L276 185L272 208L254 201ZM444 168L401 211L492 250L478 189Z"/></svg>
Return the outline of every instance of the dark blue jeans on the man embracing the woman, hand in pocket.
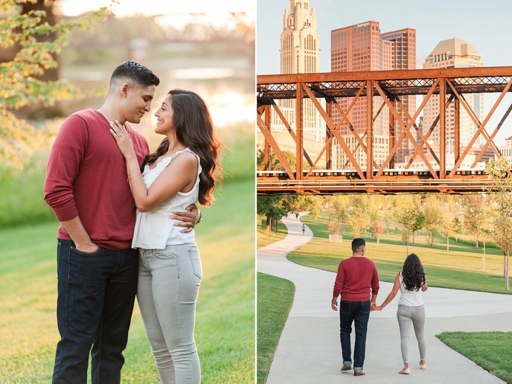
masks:
<svg viewBox="0 0 512 384"><path fill-rule="evenodd" d="M57 240L57 326L52 384L119 384L137 292L138 252L83 253ZM91 349L92 347L92 349Z"/></svg>

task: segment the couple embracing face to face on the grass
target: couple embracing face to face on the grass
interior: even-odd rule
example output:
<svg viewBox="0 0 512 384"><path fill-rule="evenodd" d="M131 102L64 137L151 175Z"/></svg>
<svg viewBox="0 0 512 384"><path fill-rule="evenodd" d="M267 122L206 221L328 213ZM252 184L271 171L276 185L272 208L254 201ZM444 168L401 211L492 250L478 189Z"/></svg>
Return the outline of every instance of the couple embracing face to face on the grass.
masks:
<svg viewBox="0 0 512 384"><path fill-rule="evenodd" d="M138 124L157 75L127 61L99 109L70 115L52 147L45 201L60 221L53 384L119 384L137 295L160 380L198 384L194 340L202 277L194 227L215 188L219 143L202 98L171 90L150 153ZM218 171L218 168L217 168Z"/></svg>

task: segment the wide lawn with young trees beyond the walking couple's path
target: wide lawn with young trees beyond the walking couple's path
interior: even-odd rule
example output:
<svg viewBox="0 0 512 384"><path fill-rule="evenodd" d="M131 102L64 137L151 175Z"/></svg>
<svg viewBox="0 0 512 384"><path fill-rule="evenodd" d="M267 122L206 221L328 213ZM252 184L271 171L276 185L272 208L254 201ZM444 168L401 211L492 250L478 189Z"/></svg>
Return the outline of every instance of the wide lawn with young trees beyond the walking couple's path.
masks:
<svg viewBox="0 0 512 384"><path fill-rule="evenodd" d="M326 214L317 221L303 216L302 221L311 228L315 237L305 246L288 254L290 261L335 272L339 261L352 255L350 242L353 237L343 233L342 244L330 243L327 220ZM406 257L406 246L402 244L399 235L393 232L383 235L379 245L376 239L369 238L368 233L361 234L361 237L367 241L366 255L375 262L380 280L393 282ZM445 244L446 240L442 240ZM445 245L439 245L439 241L432 248L422 244L422 241L424 239L419 237L417 244L409 245L409 253L416 253L420 257L429 286L512 294L512 291L505 291L503 257L496 248L487 248L486 269L482 271L482 249L454 242L450 252L446 252Z"/></svg>

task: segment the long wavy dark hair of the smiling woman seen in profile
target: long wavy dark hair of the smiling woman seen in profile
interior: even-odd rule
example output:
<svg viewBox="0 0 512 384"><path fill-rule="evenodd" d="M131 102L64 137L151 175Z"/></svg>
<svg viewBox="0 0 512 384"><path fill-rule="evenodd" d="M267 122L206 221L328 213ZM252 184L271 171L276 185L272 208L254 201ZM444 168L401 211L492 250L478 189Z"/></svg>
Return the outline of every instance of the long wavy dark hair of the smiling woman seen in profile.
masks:
<svg viewBox="0 0 512 384"><path fill-rule="evenodd" d="M211 122L208 107L195 92L173 89L169 93L173 109L173 125L176 138L184 146L199 156L202 172L199 175L199 204L209 206L214 200L212 193L216 179L220 178L220 166L217 161L220 142ZM153 153L146 155L142 169L152 164L169 149L169 140L165 137Z"/></svg>

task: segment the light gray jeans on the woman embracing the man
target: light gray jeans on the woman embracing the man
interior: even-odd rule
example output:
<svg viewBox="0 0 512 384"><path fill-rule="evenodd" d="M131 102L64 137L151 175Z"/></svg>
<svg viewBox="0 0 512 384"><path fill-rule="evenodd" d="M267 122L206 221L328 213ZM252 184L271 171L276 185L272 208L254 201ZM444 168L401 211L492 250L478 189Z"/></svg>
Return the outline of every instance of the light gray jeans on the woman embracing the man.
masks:
<svg viewBox="0 0 512 384"><path fill-rule="evenodd" d="M168 245L139 253L137 300L160 380L199 384L194 325L202 267L197 245Z"/></svg>

